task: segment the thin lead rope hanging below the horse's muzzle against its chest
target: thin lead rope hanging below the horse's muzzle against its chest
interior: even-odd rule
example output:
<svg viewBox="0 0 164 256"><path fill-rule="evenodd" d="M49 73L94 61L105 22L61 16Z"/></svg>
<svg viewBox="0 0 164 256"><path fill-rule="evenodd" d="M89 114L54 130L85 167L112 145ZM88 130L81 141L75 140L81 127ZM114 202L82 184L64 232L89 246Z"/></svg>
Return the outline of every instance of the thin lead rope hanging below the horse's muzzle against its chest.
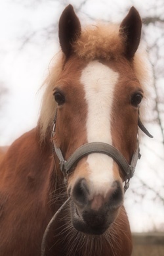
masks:
<svg viewBox="0 0 164 256"><path fill-rule="evenodd" d="M49 230L51 228L52 223L54 222L54 220L56 220L56 218L58 217L59 213L61 213L62 209L64 209L64 207L67 205L67 203L70 201L70 199L71 199L71 197L68 197L68 199L62 204L62 206L60 206L58 211L56 211L54 216L51 218L49 224L47 225L47 228L45 229L45 232L44 232L44 235L43 235L43 239L42 239L42 242L41 242L41 256L46 256L46 254L45 254L46 240L47 240L47 236L49 234Z"/></svg>

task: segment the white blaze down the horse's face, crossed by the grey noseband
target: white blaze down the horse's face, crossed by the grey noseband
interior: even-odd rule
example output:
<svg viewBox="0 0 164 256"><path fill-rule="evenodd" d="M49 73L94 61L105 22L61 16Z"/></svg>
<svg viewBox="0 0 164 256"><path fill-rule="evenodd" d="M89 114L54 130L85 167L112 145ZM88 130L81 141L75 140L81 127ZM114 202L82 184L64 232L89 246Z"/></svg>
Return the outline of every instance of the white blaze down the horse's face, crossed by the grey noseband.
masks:
<svg viewBox="0 0 164 256"><path fill-rule="evenodd" d="M92 61L81 74L88 105L87 141L100 141L112 145L111 115L113 91L119 75L108 66ZM104 193L113 183L113 159L102 153L87 157L89 182L92 193Z"/></svg>

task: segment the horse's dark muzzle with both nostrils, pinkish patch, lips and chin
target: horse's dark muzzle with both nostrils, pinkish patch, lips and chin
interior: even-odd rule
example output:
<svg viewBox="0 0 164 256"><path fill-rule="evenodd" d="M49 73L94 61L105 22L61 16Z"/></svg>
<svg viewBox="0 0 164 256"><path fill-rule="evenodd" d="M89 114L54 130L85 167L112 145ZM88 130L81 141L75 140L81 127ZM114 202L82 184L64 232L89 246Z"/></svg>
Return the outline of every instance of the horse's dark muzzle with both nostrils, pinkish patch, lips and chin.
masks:
<svg viewBox="0 0 164 256"><path fill-rule="evenodd" d="M123 205L123 188L118 181L103 195L91 196L85 179L79 179L72 190L72 224L85 234L103 234L117 218Z"/></svg>

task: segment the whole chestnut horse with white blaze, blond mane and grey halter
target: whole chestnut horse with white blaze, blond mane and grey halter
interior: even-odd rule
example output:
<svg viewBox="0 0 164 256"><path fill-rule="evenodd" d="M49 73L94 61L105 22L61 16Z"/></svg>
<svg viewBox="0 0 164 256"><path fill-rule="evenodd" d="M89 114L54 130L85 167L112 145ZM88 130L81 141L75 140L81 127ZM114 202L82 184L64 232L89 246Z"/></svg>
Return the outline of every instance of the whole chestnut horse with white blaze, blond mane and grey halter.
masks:
<svg viewBox="0 0 164 256"><path fill-rule="evenodd" d="M140 157L148 91L142 21L81 28L60 16L60 52L45 80L37 126L1 158L1 256L130 256L124 194Z"/></svg>

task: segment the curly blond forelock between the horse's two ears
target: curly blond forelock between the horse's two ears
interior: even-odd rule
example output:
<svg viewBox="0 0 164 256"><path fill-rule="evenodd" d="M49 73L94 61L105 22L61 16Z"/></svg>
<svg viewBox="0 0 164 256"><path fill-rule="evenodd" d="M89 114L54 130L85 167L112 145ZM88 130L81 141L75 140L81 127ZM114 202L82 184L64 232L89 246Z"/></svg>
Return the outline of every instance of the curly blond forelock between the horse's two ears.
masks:
<svg viewBox="0 0 164 256"><path fill-rule="evenodd" d="M81 36L73 43L73 51L79 58L117 59L123 54L125 38L116 24L97 24L87 26Z"/></svg>

